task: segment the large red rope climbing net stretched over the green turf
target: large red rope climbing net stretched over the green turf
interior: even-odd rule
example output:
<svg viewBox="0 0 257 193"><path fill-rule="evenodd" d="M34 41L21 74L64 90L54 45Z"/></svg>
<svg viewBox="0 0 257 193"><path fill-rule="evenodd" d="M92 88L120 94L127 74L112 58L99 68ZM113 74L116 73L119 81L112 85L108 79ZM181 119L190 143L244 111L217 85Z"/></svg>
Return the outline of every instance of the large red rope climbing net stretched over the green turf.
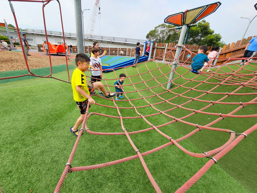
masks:
<svg viewBox="0 0 257 193"><path fill-rule="evenodd" d="M182 51L180 55L184 54L184 52L186 52L186 51L190 53L190 56L192 56L192 54L194 54L193 52L191 52L190 50L185 48L185 50ZM172 50L165 53L164 55L169 54L169 53L172 53ZM173 55L173 53L172 53L172 55ZM160 56L158 56L158 57L160 57ZM173 57L175 58L174 55L173 55ZM253 115L234 115L235 112L244 108L247 105L257 104L257 102L256 102L257 97L250 100L249 102L241 102L241 101L239 101L239 102L222 102L222 101L224 101L224 99L227 99L231 95L240 97L242 95L252 95L252 96L254 96L254 95L257 94L256 92L251 92L251 93L237 92L240 89L242 89L243 87L250 87L253 90L257 89L257 87L256 87L257 86L257 84L256 84L256 76L257 76L256 71L253 71L253 70L250 70L250 69L246 68L247 65L249 65L253 68L256 68L256 65L254 64L254 63L256 63L256 61L253 61L253 63L249 63L249 58L245 58L245 59L247 59L247 62L243 66L240 66L239 63L233 63L233 64L227 64L227 63L231 60L238 60L238 59L242 59L242 58L228 58L226 60L226 62L224 62L222 65L219 65L219 66L212 65L214 68L212 68L212 71L210 71L210 72L207 72L207 73L203 72L203 73L200 73L198 75L196 74L194 78L187 78L188 73L191 73L190 72L190 66L185 65L186 61L184 63L180 63L178 61L178 58L175 59L176 62L178 63L178 65L177 65L177 68L174 69L174 70L170 66L171 62L165 61L165 64L161 64L161 66L159 66L160 63L157 63L155 58L152 59L152 60L148 60L145 63L139 64L139 65L145 65L146 71L143 72L143 73L140 73L138 67L136 66L137 72L135 73L135 75L130 75L130 74L127 73L127 68L128 67L124 67L125 73L127 75L126 81L128 81L128 80L130 81L130 84L126 84L126 85L121 86L122 90L124 91L124 95L126 97L126 100L119 100L121 102L117 103L117 100L115 100L114 98L108 99L108 100L111 100L113 102L113 106L107 106L107 105L96 103L96 105L98 105L98 106L103 106L103 107L115 109L117 111L118 116L105 115L105 114L97 113L97 112L90 112L89 113L88 112L89 105L88 105L86 115L85 115L85 119L82 123L82 127L80 129L79 136L77 137L75 145L74 145L74 147L72 149L72 152L70 154L70 157L68 159L68 163L65 166L65 170L63 171L63 174L62 174L54 192L59 192L60 191L61 185L62 185L67 173L69 173L69 172L71 173L71 172L75 172L75 171L83 171L83 170L92 170L92 169L97 169L97 168L103 168L103 167L106 167L106 166L110 166L110 165L122 163L122 162L125 162L125 161L129 161L129 160L132 160L132 159L135 159L135 158L140 159L140 161L143 165L143 168L144 168L147 176L149 177L153 187L155 188L156 192L162 192L160 187L158 186L158 184L155 182L154 178L152 177L152 175L151 175L151 173L148 169L148 166L146 165L146 163L143 159L143 156L154 153L154 152L156 152L158 150L161 150L161 149L163 149L167 146L170 146L172 144L175 145L177 148L179 148L180 150L182 150L183 152L185 152L186 154L188 154L190 156L194 156L194 157L198 157L198 158L207 157L207 158L210 159L194 176L192 176L184 185L182 185L176 191L176 192L186 192L194 183L196 183L196 181L201 176L203 176L203 174L214 163L216 163L222 156L224 156L228 151L230 151L244 137L246 137L248 134L250 134L252 131L254 131L257 128L257 124L255 124L251 128L245 130L243 133L236 134L233 130L230 130L230 129L212 127L212 125L214 125L218 121L221 121L221 120L225 119L226 117L231 117L231 118L257 117L257 114L253 114ZM217 59L217 58L215 58L215 59ZM151 69L151 70L149 68L150 66L152 66L152 64L149 64L150 61L155 62L155 65L156 65L156 67L154 69ZM232 65L236 66L237 69L234 70L232 68ZM224 66L228 69L229 72L224 71L224 68L222 68ZM168 67L169 71L168 72L163 72L162 69L164 69L164 67ZM186 70L186 72L183 73L183 74L179 74L178 71L181 68ZM177 77L174 78L173 80L170 80L169 77L167 76L168 74L170 74L170 71L174 71L175 74L177 75ZM104 78L105 83L106 83L105 86L107 87L106 90L109 90L110 92L111 92L110 88L112 88L112 85L108 85L107 81L118 80L117 74L114 71L114 69L113 69L113 72L115 73L116 79L106 79L106 78ZM158 72L159 76L155 77L153 75L154 72ZM246 74L246 73L243 73L243 72L248 72L248 73ZM148 80L143 79L143 75L145 76L145 74L147 74L147 77L149 77ZM162 82L158 81L159 78L161 78L161 77L164 78L164 80L166 80L166 81L164 81L164 82L163 81ZM140 80L140 82L133 83L132 78L134 78L134 79L137 78L137 80ZM205 80L198 80L199 78L205 78ZM183 84L178 84L177 82L180 82L181 79L184 80L185 82ZM150 87L148 85L149 81L155 81L156 82L155 86ZM169 82L171 82L173 84L173 88L170 89L170 90L168 90L164 87L164 85L167 85L167 83L169 83ZM196 85L194 87L188 87L187 85L191 84L191 83L195 83ZM143 84L145 89L141 89L141 90L137 89L139 84ZM213 85L214 87L209 89L208 91L207 90L199 90L198 88L203 86L204 84ZM217 89L218 87L220 87L222 85L223 86L234 86L234 87L236 87L236 89L234 89L232 92L214 92L215 89ZM128 87L128 86L130 86L130 87L132 86L134 88L134 91L125 92L125 90L127 90L126 87ZM163 90L163 92L161 92L161 93L154 92L154 89L157 88L157 87L161 88ZM176 90L178 90L180 88L184 88L184 89L186 89L186 91L182 92L182 93L176 92ZM143 96L142 95L142 92L144 92L146 90L148 91L149 96ZM190 95L190 91L197 91L198 96L197 97L187 96L187 95ZM135 99L130 99L129 98L130 93L137 93L140 97L135 98ZM173 97L166 100L162 97L162 95L165 94L165 93L169 93ZM201 97L203 97L204 95L207 95L207 94L222 95L222 97L220 99L216 100L216 101L212 101L212 100L209 101L209 100L200 99ZM101 96L98 96L98 97L101 97ZM151 98L151 97L158 97L161 102L157 102L157 103L152 104L151 102L149 102L149 98ZM184 102L182 104L172 103L172 101L174 101L175 99L177 99L179 97L187 99L187 102ZM103 98L103 97L101 97L101 98ZM145 106L135 106L135 104L134 104L135 100L143 100L146 103L146 105ZM129 104L131 105L131 107L122 107L122 102L123 101L124 102L128 101ZM199 110L185 107L186 104L188 106L188 104L190 105L190 103L192 103L193 101L204 102L205 107L201 108ZM161 110L161 109L157 108L158 104L164 104L164 103L165 103L166 107L167 106L169 107L168 110ZM211 107L215 104L223 104L223 105L232 105L233 104L233 105L238 105L238 107L236 107L233 111L231 111L227 114L221 113L221 112L220 113L214 113L214 112L205 111L206 109L208 110L209 107ZM145 107L151 107L152 109L154 109L156 111L156 113L151 114L151 115L144 115L143 113L140 113L139 109L140 108L145 108ZM121 112L120 112L121 109L133 109L138 114L138 116L136 116L136 117L125 117L121 114ZM175 115L172 116L172 115L168 114L168 112L172 112L172 110L175 110L175 109L187 110L188 113L187 113L186 116L183 116L183 117L176 117ZM212 121L212 122L210 122L206 125L199 125L197 123L187 122L187 121L183 120L183 119L186 119L190 116L195 115L196 113L201 113L201 114L206 114L206 115L213 115L216 118L215 118L214 121ZM162 124L162 125L155 125L154 123L152 123L148 120L148 117L156 116L156 115L160 115L160 114L162 114L163 116L166 116L168 118L171 118L172 120L165 123L165 124ZM113 119L119 119L120 123L121 123L121 129L120 130L123 131L123 132L102 133L102 132L91 131L87 126L87 122L88 122L88 120L90 120L90 118L94 119L94 115L110 117L110 118L113 118ZM124 119L143 119L149 125L149 128L129 132L129 131L127 131L127 128L123 124ZM193 131L191 131L190 133L188 133L187 135L185 135L181 138L178 138L178 139L173 139L172 136L169 136L169 135L163 133L160 130L161 127L167 126L167 125L175 123L177 121L179 121L179 122L181 122L185 125L194 126L196 128ZM224 125L224 127L225 127L225 125ZM184 148L183 146L181 146L179 144L179 142L181 142L182 140L187 139L188 137L194 135L195 133L201 131L202 129L226 132L226 133L230 134L230 137L227 140L227 142L224 145L222 145L221 147L218 147L218 148L215 148L211 151L207 151L207 152L203 152L203 153L191 152L191 151L187 150L186 148ZM166 144L163 144L163 145L161 145L157 148L154 148L150 151L140 152L140 150L133 143L130 135L138 134L138 133L142 133L142 132L147 132L149 130L155 130L160 135L167 138L168 142ZM81 138L81 135L82 135L83 131L86 131L87 133L92 134L92 135L125 135L127 137L127 140L130 142L131 146L135 150L135 155L130 156L130 157L126 157L126 158L123 158L123 159L120 159L120 160L116 160L116 161L102 163L102 164L72 167L71 162L72 162L73 156L75 154L76 148L78 146L78 143L79 143L79 140Z"/></svg>

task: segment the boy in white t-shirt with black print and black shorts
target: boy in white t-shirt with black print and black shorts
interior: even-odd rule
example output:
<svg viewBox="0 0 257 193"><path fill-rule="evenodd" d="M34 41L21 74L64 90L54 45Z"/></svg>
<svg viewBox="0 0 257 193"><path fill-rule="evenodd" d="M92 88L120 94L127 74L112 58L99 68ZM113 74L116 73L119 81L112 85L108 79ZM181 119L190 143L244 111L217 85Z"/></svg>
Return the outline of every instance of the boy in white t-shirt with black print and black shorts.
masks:
<svg viewBox="0 0 257 193"><path fill-rule="evenodd" d="M99 48L92 48L92 53L94 54L90 57L90 67L91 67L91 82L99 82L102 79L103 71L102 71L102 62L99 58L100 49ZM96 79L97 78L97 79ZM93 93L95 94L95 93ZM104 96L102 91L99 91L99 95Z"/></svg>

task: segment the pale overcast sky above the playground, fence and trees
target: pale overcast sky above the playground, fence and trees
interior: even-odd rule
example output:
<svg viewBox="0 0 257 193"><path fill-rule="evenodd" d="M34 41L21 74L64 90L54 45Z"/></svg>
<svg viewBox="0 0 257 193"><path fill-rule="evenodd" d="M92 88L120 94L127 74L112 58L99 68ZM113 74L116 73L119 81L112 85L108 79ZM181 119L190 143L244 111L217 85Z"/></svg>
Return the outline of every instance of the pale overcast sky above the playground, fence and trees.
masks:
<svg viewBox="0 0 257 193"><path fill-rule="evenodd" d="M82 10L90 9L84 11L84 29L86 31L95 1L81 0L81 2ZM164 18L168 15L215 2L202 0L101 0L101 19L96 17L94 34L145 40L146 34L155 26L163 23ZM221 34L222 40L226 43L240 40L249 24L249 20L240 17L253 19L257 14L254 8L256 0L224 0L220 2L221 6L205 20L210 23L210 27L215 33ZM60 3L64 31L76 33L74 1L60 0ZM12 2L12 4L19 28L44 29L42 3ZM15 26L9 2L1 0L1 6L0 22L6 19L7 23ZM47 30L62 31L57 1L50 2L44 10ZM254 36L256 33L257 17L252 21L245 37Z"/></svg>

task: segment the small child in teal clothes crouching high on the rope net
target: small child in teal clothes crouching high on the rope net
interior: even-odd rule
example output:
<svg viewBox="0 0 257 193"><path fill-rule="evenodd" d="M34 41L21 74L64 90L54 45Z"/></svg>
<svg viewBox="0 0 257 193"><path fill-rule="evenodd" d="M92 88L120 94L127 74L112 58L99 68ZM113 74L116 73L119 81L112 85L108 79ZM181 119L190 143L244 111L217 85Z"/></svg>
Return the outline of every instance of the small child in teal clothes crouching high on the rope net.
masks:
<svg viewBox="0 0 257 193"><path fill-rule="evenodd" d="M208 64L210 63L209 58L205 55L207 50L208 47L205 45L199 47L197 55L192 59L192 73L199 74L197 70L201 69L204 66L204 62L207 62Z"/></svg>

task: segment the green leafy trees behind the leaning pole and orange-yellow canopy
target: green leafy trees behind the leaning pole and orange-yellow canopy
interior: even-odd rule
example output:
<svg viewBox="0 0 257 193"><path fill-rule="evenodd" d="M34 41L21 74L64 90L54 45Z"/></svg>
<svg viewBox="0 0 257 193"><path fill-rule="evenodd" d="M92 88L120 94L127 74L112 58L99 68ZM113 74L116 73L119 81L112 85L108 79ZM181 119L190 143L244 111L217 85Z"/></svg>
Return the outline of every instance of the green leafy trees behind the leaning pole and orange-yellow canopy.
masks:
<svg viewBox="0 0 257 193"><path fill-rule="evenodd" d="M175 27L169 24L160 24L154 28L154 30L149 31L146 38L151 38L153 41L159 43L178 43L180 36L180 30L171 29L161 31L163 29L168 29ZM220 47L224 46L226 43L221 41L222 36L219 33L214 33L214 30L210 29L210 23L202 20L196 24L196 26L191 27L187 44L195 45L206 45Z"/></svg>

